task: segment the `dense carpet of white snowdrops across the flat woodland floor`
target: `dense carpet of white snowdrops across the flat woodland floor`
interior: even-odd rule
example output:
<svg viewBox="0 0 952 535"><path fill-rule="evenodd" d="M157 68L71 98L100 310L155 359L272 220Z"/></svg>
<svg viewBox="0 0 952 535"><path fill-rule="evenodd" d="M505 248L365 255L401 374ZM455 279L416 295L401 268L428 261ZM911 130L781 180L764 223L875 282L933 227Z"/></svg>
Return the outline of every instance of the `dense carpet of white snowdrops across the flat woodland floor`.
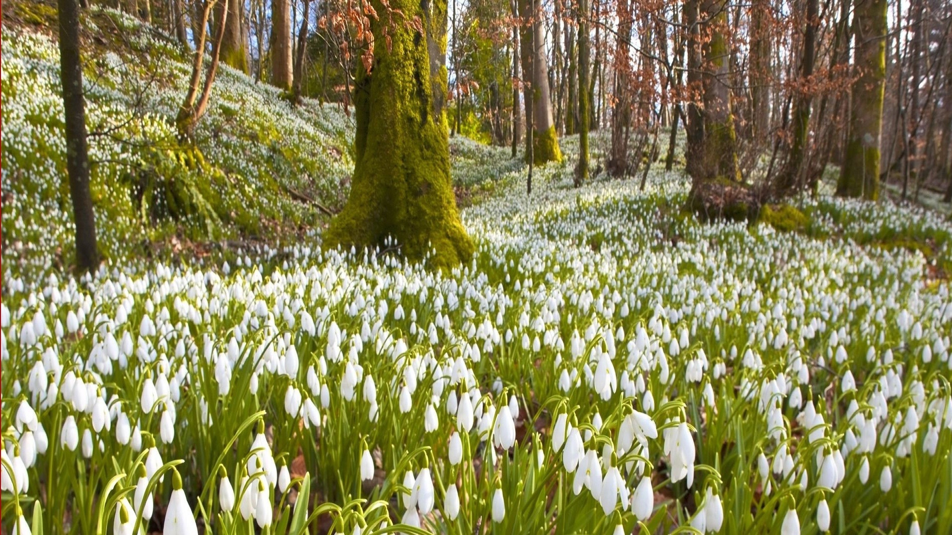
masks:
<svg viewBox="0 0 952 535"><path fill-rule="evenodd" d="M549 166L529 197L507 149L454 141L486 194L452 272L317 235L77 281L50 269L59 164L23 159L62 144L30 122L59 106L55 49L19 37L4 188L36 197L3 207L6 532L952 532L940 216L821 197L797 201L809 233L704 225L680 172L575 189ZM221 80L244 85L213 99L267 92ZM10 270L28 248L48 260Z"/></svg>

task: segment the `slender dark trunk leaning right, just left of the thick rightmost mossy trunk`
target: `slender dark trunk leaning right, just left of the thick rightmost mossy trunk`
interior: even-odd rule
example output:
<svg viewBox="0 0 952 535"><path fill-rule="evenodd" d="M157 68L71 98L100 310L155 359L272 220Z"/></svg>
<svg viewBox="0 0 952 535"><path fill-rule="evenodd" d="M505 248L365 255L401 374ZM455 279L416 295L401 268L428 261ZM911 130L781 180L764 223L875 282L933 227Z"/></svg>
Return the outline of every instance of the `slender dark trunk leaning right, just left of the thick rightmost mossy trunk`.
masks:
<svg viewBox="0 0 952 535"><path fill-rule="evenodd" d="M813 76L819 16L818 0L806 0L806 31L803 33L800 84L797 88L797 102L793 111L793 140L786 166L780 173L776 188L776 192L782 195L803 186L803 159L807 149L806 138L809 133L810 110L813 103L809 84L810 77Z"/></svg>

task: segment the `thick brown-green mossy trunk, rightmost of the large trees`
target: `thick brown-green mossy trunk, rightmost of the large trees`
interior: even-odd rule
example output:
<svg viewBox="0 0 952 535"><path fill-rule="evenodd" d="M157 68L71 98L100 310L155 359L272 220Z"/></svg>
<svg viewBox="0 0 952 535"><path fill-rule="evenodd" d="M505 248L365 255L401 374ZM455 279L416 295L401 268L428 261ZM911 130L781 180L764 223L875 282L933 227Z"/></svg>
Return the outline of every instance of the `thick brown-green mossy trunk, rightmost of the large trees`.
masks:
<svg viewBox="0 0 952 535"><path fill-rule="evenodd" d="M880 194L880 139L886 72L886 0L858 0L854 9L856 81L837 194L875 200Z"/></svg>

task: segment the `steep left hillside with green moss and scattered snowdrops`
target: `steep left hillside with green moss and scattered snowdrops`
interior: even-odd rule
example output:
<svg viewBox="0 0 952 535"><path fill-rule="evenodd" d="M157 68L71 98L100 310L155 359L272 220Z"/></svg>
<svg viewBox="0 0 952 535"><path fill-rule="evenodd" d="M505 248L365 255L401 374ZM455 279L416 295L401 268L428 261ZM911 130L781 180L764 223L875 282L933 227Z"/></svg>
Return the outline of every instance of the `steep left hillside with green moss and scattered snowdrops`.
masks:
<svg viewBox="0 0 952 535"><path fill-rule="evenodd" d="M3 261L44 272L72 256L55 10L23 2L4 14ZM222 68L185 146L174 118L188 50L118 11L93 8L82 22L90 186L107 259L162 250L172 238L278 239L320 225L314 203L343 203L352 126L340 109L292 106L278 89Z"/></svg>

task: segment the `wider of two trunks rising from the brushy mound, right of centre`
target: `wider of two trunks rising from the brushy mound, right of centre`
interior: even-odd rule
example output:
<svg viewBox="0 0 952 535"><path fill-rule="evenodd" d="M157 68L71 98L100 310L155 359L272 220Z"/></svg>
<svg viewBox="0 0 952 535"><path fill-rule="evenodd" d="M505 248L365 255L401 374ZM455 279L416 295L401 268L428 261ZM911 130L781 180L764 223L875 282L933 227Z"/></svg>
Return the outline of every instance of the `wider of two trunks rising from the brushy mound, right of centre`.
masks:
<svg viewBox="0 0 952 535"><path fill-rule="evenodd" d="M730 44L725 0L704 0L701 6L709 38L704 45L704 179L740 181L737 135L730 109Z"/></svg>

